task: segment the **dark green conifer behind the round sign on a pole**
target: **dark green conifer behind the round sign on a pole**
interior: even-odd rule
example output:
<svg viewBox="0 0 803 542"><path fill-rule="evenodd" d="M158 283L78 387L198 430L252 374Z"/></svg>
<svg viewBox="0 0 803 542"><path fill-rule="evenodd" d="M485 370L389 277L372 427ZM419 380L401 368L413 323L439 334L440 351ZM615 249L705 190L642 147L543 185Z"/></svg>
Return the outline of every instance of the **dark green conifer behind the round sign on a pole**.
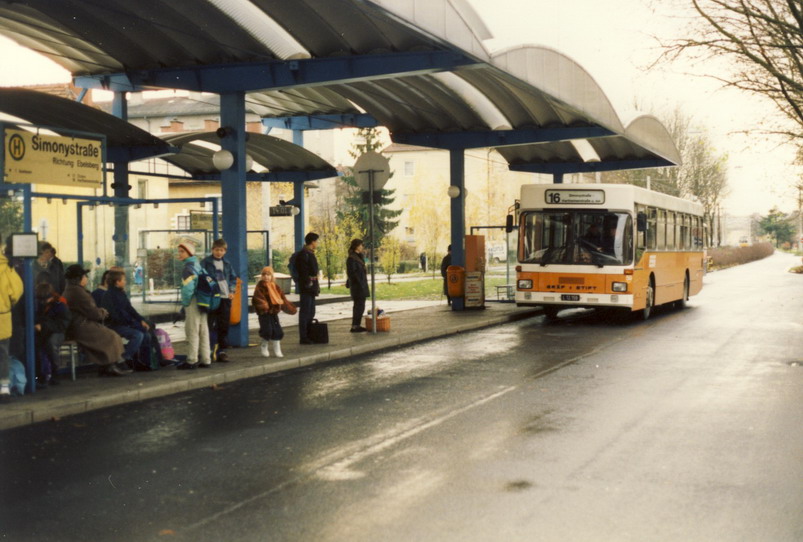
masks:
<svg viewBox="0 0 803 542"><path fill-rule="evenodd" d="M360 128L357 136L363 143L355 143L349 154L355 160L363 153L368 151L379 152L382 147L382 142L379 139L379 132L376 128ZM393 172L390 172L393 176ZM363 192L357 186L357 180L354 175L344 175L341 177L344 182L345 191L342 203L338 205L337 218L338 221L346 220L351 217L358 225L359 230L370 231L370 210L368 204L363 203ZM402 214L401 210L388 209L387 206L395 201L395 190L377 190L379 193L379 203L374 208L374 246L382 246L382 239L393 229L399 225L398 216ZM370 249L370 241L366 239L365 247Z"/></svg>

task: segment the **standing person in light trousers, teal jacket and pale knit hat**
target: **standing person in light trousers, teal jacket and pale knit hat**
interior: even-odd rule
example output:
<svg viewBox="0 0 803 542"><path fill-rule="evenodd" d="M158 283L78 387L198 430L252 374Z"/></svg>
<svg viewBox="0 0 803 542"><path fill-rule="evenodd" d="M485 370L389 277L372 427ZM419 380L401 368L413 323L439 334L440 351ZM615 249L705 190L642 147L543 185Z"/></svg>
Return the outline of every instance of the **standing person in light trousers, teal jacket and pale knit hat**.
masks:
<svg viewBox="0 0 803 542"><path fill-rule="evenodd" d="M209 348L209 324L206 312L199 308L198 285L208 275L195 257L195 245L184 242L178 245L178 259L184 263L181 272L181 304L186 314L184 332L187 336L187 361L177 369L209 368L212 366ZM220 299L218 294L218 300ZM200 357L200 359L199 359Z"/></svg>

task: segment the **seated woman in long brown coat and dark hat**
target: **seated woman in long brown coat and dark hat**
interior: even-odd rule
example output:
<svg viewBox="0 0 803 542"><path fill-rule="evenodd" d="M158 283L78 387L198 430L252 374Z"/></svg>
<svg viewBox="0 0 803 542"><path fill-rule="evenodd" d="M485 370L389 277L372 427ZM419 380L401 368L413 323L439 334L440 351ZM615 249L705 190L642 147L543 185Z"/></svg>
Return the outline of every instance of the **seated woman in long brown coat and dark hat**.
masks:
<svg viewBox="0 0 803 542"><path fill-rule="evenodd" d="M64 299L72 314L67 340L75 340L87 359L100 365L100 374L121 376L131 372L117 363L123 355L123 341L117 333L103 325L108 313L95 305L95 300L86 290L87 273L89 271L80 265L71 265L64 273L67 279Z"/></svg>

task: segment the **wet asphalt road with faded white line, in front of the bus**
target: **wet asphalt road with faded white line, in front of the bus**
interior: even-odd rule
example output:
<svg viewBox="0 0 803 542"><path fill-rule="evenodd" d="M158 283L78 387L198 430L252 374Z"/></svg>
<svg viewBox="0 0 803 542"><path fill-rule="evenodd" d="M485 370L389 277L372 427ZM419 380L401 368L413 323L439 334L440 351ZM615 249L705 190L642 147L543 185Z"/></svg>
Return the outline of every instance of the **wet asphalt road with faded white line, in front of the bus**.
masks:
<svg viewBox="0 0 803 542"><path fill-rule="evenodd" d="M2 432L0 539L801 540L793 264Z"/></svg>

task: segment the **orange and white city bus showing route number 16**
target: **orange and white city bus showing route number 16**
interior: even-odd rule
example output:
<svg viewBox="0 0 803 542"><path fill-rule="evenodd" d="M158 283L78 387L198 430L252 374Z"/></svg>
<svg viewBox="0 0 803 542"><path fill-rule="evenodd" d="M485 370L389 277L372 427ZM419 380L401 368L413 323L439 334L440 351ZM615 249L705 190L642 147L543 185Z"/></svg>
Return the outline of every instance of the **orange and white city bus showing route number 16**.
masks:
<svg viewBox="0 0 803 542"><path fill-rule="evenodd" d="M524 185L518 227L516 304L542 306L549 319L612 307L646 320L703 287L698 203L625 184Z"/></svg>

